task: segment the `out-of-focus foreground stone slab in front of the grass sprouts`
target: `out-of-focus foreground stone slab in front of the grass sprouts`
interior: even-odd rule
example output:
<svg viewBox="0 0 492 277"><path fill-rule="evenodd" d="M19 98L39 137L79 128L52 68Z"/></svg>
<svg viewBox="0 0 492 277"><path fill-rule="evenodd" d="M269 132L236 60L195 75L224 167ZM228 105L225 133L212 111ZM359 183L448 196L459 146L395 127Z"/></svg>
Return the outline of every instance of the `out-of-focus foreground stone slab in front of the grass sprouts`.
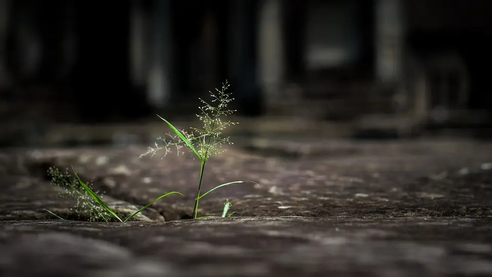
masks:
<svg viewBox="0 0 492 277"><path fill-rule="evenodd" d="M2 276L492 274L490 217L0 222ZM28 267L24 266L26 263ZM140 275L139 275L140 274Z"/></svg>

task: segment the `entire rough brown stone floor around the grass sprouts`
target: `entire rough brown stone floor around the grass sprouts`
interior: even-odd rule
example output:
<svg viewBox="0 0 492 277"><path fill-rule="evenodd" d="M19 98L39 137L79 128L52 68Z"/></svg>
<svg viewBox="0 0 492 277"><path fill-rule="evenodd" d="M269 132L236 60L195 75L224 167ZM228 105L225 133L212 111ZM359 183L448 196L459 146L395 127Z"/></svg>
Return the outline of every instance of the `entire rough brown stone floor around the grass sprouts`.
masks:
<svg viewBox="0 0 492 277"><path fill-rule="evenodd" d="M235 216L196 221L186 218L199 162L142 152L1 152L0 275L492 274L490 143L242 141L211 158L203 189L260 185L210 193L201 215L220 215L229 199ZM44 208L76 218L46 178L52 165L73 165L121 210L171 190L186 196L166 197L139 219L157 222L49 221Z"/></svg>

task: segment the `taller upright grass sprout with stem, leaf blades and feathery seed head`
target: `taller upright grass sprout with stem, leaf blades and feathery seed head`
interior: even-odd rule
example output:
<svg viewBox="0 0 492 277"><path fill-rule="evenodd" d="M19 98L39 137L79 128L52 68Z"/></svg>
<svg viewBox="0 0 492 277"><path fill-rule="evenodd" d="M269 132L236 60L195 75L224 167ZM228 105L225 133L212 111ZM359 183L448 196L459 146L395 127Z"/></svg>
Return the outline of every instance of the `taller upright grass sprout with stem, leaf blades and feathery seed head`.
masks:
<svg viewBox="0 0 492 277"><path fill-rule="evenodd" d="M163 146L159 146L157 143L155 147L149 147L148 151L140 157L151 154L152 156L159 150L164 151L164 156L171 152L171 148L176 148L176 152L179 154L180 149L186 146L189 150L191 150L200 160L200 177L198 181L197 193L195 198L195 205L193 207L193 219L197 219L198 213L198 202L199 200L212 192L213 190L232 185L237 183L245 183L252 182L258 185L253 181L234 181L226 184L221 184L216 186L215 188L201 194L201 185L203 180L203 171L205 168L205 164L208 161L209 157L213 154L219 154L224 151L222 149L222 145L224 144L233 144L229 141L229 137L222 137L221 133L226 127L230 125L235 125L237 122L231 121L223 121L222 116L227 116L233 114L236 110L228 109L228 104L234 100L234 98L230 98L231 93L226 93L226 90L229 88L229 84L222 84L221 90L215 89L216 92L210 92L210 96L212 100L210 103L216 104L215 106L209 104L207 101L199 98L201 102L201 106L199 107L201 113L196 116L203 123L202 128L191 128L192 132L186 132L183 130L176 129L170 122L157 115L162 121L164 121L169 128L174 132L174 135L168 135L171 140L165 140L163 138L158 138L158 140L162 141ZM199 217L203 218L203 217Z"/></svg>

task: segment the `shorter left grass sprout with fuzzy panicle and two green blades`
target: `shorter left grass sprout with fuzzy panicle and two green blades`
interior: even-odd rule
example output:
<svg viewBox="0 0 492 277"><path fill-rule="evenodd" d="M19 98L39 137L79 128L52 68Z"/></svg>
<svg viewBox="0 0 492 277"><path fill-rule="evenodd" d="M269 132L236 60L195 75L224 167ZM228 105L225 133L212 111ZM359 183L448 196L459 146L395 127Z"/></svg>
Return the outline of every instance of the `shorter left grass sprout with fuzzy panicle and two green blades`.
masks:
<svg viewBox="0 0 492 277"><path fill-rule="evenodd" d="M170 194L180 194L181 196L185 196L177 191L171 191L166 194L160 195L154 201L147 204L146 206L140 208L138 211L134 212L127 219L122 220L100 197L94 192L89 185L80 180L77 172L72 167L73 173L75 175L74 179L70 179L70 174L68 171L65 173L61 173L61 171L55 167L50 167L48 169L48 174L52 177L52 184L62 187L64 189L64 194L68 196L72 196L76 202L76 210L79 212L82 210L89 210L90 218L89 221L106 221L109 222L111 217L116 219L119 222L127 222L131 220L135 215L140 213L141 211L147 209L150 205L154 204L156 201L166 197ZM52 214L59 220L64 220L62 217L57 214L45 209L48 213Z"/></svg>

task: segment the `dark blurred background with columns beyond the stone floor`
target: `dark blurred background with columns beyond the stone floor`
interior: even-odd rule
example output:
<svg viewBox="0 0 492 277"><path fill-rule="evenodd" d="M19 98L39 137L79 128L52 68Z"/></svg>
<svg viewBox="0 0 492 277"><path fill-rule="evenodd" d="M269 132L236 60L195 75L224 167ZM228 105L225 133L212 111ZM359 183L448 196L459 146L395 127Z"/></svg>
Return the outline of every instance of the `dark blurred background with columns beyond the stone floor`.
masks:
<svg viewBox="0 0 492 277"><path fill-rule="evenodd" d="M0 0L0 146L138 143L226 80L246 135L492 136L487 0Z"/></svg>

